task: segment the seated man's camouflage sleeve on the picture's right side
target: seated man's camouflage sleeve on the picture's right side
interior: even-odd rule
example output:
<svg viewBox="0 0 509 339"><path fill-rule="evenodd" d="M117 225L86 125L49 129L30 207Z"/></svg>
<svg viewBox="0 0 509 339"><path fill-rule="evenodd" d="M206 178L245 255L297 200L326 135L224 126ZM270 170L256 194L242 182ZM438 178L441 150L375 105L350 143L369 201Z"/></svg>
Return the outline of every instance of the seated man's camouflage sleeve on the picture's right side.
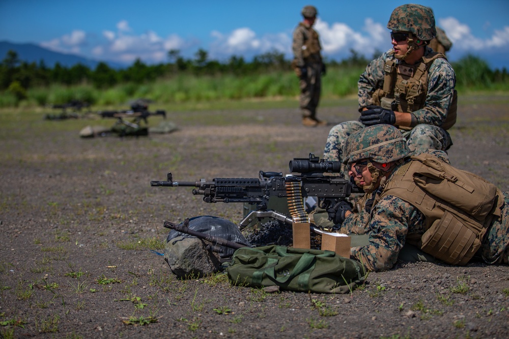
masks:
<svg viewBox="0 0 509 339"><path fill-rule="evenodd" d="M453 100L456 74L444 58L433 61L428 73L428 94L424 107L412 114L417 124L442 126Z"/></svg>

